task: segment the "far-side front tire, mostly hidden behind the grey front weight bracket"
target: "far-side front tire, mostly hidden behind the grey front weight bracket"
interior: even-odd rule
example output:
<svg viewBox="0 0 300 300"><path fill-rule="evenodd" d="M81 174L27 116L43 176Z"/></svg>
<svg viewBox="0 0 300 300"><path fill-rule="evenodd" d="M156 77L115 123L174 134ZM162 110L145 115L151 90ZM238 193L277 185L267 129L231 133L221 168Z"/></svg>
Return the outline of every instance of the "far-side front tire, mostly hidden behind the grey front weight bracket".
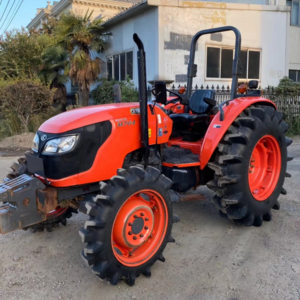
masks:
<svg viewBox="0 0 300 300"><path fill-rule="evenodd" d="M7 180L12 180L14 178L17 178L20 175L27 174L31 176L32 174L29 173L28 167L27 167L27 161L25 157L20 157L18 159L18 163L13 163L11 166L12 171L6 175ZM32 233L35 233L37 231L44 231L46 229L48 232L51 232L54 227L58 227L59 224L62 224L63 226L67 225L67 219L70 219L72 217L72 214L77 214L78 211L72 207L69 207L63 214L59 216L48 216L47 220L29 227L24 228L24 230L29 229Z"/></svg>

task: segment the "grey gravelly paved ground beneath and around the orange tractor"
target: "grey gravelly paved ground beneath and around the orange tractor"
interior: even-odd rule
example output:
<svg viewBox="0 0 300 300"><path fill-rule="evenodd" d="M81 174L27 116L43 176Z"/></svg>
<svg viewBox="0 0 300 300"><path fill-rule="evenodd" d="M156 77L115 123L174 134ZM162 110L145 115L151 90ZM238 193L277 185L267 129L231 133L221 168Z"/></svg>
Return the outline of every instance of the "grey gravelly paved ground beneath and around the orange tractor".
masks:
<svg viewBox="0 0 300 300"><path fill-rule="evenodd" d="M85 215L52 233L0 236L0 299L300 299L300 141L289 147L287 196L261 228L219 217L209 200L177 204L175 244L152 277L110 286L83 263ZM0 158L0 180L14 158ZM203 188L207 198L210 192Z"/></svg>

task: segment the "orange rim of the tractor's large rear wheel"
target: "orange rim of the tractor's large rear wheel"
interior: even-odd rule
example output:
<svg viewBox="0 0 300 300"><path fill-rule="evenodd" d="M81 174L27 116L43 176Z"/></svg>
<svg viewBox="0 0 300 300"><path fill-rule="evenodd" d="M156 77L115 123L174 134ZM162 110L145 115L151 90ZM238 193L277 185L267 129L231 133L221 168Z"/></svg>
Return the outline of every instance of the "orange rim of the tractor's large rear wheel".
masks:
<svg viewBox="0 0 300 300"><path fill-rule="evenodd" d="M249 187L257 201L264 201L271 196L280 171L280 146L273 136L265 135L255 145L249 162Z"/></svg>

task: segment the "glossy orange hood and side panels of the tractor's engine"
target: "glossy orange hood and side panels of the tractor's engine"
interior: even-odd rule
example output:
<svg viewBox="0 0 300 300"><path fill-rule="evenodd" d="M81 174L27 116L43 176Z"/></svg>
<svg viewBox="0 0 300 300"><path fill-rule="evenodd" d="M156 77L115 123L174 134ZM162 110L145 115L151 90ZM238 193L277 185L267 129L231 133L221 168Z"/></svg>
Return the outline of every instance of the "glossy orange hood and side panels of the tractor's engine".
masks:
<svg viewBox="0 0 300 300"><path fill-rule="evenodd" d="M59 180L48 178L51 184L57 187L81 185L107 180L116 175L117 169L123 165L125 156L142 147L140 114L132 113L132 108L139 108L139 104L118 103L91 106L75 109L46 121L39 130L47 133L63 133L105 120L110 120L112 124L112 133L98 150L89 170ZM120 126L119 123L123 121L133 125ZM152 114L148 106L148 124L149 145L166 143L169 140L173 123L159 107L155 107ZM158 136L159 128L161 128L162 136Z"/></svg>

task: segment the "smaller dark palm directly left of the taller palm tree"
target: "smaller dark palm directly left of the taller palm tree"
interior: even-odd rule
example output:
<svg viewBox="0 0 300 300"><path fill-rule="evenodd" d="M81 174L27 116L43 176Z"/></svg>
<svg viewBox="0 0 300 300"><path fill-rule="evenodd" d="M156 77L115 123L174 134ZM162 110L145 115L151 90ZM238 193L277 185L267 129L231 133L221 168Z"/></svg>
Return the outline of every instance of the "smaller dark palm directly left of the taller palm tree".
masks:
<svg viewBox="0 0 300 300"><path fill-rule="evenodd" d="M39 77L42 82L50 85L50 89L55 89L53 104L60 105L61 109L65 111L67 104L65 83L69 78L64 70L69 64L68 52L61 46L52 46L45 50L42 61Z"/></svg>

